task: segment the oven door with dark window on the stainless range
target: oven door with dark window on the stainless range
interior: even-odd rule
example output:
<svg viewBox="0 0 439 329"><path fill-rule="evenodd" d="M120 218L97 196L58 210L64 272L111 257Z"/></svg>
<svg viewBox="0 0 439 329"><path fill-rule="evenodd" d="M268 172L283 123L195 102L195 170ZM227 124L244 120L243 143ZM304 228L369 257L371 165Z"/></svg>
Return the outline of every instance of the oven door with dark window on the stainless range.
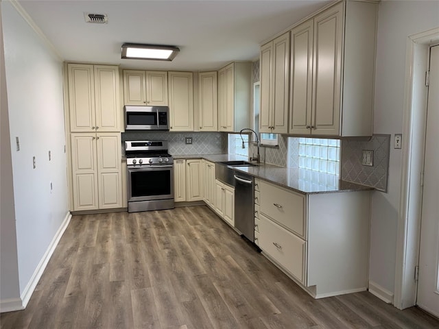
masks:
<svg viewBox="0 0 439 329"><path fill-rule="evenodd" d="M169 168L129 169L128 201L174 197L174 178Z"/></svg>

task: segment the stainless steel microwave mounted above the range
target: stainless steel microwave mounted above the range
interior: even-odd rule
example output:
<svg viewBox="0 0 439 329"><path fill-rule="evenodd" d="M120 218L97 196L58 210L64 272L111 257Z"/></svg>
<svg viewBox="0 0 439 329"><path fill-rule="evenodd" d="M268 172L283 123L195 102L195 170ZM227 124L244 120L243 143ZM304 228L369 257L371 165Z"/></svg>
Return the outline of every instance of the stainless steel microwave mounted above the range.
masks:
<svg viewBox="0 0 439 329"><path fill-rule="evenodd" d="M167 106L124 106L125 130L169 130Z"/></svg>

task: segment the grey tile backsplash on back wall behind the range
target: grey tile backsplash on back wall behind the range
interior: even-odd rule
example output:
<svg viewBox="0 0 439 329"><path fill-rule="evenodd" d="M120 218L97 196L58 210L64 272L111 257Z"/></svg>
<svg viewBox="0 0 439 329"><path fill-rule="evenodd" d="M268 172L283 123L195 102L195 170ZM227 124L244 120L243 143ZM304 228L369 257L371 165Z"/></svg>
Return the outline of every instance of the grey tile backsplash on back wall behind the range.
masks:
<svg viewBox="0 0 439 329"><path fill-rule="evenodd" d="M192 137L192 144L185 144L185 137ZM125 141L168 141L169 154L224 154L227 153L227 134L223 132L149 132L122 133ZM123 147L122 147L123 149Z"/></svg>

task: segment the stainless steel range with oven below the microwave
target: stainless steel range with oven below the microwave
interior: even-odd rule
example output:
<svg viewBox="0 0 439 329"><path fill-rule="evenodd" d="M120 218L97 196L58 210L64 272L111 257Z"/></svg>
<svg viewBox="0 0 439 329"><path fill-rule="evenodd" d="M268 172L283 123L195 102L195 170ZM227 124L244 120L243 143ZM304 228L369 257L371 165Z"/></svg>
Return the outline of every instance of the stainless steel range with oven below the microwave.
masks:
<svg viewBox="0 0 439 329"><path fill-rule="evenodd" d="M128 212L174 208L174 158L167 141L126 141Z"/></svg>

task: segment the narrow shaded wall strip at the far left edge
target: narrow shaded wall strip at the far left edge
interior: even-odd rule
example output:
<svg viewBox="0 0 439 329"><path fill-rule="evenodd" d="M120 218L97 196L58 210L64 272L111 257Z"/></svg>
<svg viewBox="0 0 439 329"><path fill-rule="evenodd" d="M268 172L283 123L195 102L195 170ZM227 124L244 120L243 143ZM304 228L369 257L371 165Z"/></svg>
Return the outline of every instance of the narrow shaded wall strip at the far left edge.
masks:
<svg viewBox="0 0 439 329"><path fill-rule="evenodd" d="M19 263L16 250L14 186L9 136L8 98L3 56L3 29L0 9L0 293L1 308L21 304Z"/></svg>

